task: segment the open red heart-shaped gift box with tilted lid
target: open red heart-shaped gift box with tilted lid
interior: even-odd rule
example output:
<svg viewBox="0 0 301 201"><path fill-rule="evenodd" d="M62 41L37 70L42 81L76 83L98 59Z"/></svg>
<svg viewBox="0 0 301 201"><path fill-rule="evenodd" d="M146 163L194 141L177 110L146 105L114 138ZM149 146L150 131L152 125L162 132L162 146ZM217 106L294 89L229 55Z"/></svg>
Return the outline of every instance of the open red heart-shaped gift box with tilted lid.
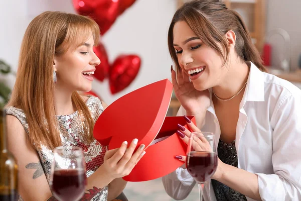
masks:
<svg viewBox="0 0 301 201"><path fill-rule="evenodd" d="M184 162L175 158L186 155L187 145L176 133L178 124L187 128L183 117L166 117L173 85L164 79L134 90L108 106L95 123L93 135L110 149L119 148L123 141L138 139L145 145L145 155L126 181L147 181L165 176ZM188 117L195 123L194 117Z"/></svg>

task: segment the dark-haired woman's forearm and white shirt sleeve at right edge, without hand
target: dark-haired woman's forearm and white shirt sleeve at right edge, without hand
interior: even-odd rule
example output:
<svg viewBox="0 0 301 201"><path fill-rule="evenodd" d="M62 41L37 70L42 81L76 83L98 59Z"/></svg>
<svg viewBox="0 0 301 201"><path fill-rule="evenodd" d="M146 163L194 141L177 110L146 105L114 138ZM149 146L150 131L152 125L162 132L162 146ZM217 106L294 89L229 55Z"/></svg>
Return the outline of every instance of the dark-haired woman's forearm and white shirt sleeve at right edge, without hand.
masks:
<svg viewBox="0 0 301 201"><path fill-rule="evenodd" d="M223 165L217 180L257 200L301 200L301 94L295 91L294 95L289 93L279 101L270 120L274 174Z"/></svg>

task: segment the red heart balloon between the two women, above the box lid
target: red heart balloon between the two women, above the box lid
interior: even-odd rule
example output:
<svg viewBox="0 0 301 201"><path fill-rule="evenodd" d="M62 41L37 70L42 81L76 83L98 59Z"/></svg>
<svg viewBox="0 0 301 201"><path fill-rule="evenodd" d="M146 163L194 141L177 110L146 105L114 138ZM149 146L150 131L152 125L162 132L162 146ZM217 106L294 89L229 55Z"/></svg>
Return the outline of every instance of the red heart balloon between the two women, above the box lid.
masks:
<svg viewBox="0 0 301 201"><path fill-rule="evenodd" d="M137 55L120 55L109 70L111 93L117 93L127 87L140 69L141 59Z"/></svg>

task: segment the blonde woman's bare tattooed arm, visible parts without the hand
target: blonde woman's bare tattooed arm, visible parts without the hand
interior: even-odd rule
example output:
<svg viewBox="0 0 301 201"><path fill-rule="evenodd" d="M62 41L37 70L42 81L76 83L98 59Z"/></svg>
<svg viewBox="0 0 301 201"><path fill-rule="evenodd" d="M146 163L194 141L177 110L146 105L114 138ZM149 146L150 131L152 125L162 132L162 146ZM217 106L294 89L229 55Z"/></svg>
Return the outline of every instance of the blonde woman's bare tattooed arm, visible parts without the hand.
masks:
<svg viewBox="0 0 301 201"><path fill-rule="evenodd" d="M8 116L7 123L10 125L8 127L8 146L16 157L19 166L19 192L21 196L24 200L56 200L54 197L51 197L52 192L39 156L34 147L28 143L27 133L22 124L14 116ZM95 172L88 178L89 185L86 186L87 190L91 189L92 191L91 193L88 191L85 194L96 195L111 180L103 172ZM97 190L95 190L94 186Z"/></svg>

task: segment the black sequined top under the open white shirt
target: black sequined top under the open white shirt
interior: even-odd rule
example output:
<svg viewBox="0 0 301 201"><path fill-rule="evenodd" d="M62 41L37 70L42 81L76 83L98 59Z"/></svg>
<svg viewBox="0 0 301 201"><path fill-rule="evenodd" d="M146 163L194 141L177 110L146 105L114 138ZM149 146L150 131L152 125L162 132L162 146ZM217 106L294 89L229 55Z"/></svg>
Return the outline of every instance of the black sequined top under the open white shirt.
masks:
<svg viewBox="0 0 301 201"><path fill-rule="evenodd" d="M229 144L219 140L217 147L218 157L220 160L228 165L238 167L237 153L235 148L235 140ZM247 198L233 190L232 188L226 186L225 184L211 179L216 200L218 201L240 201L247 200Z"/></svg>

